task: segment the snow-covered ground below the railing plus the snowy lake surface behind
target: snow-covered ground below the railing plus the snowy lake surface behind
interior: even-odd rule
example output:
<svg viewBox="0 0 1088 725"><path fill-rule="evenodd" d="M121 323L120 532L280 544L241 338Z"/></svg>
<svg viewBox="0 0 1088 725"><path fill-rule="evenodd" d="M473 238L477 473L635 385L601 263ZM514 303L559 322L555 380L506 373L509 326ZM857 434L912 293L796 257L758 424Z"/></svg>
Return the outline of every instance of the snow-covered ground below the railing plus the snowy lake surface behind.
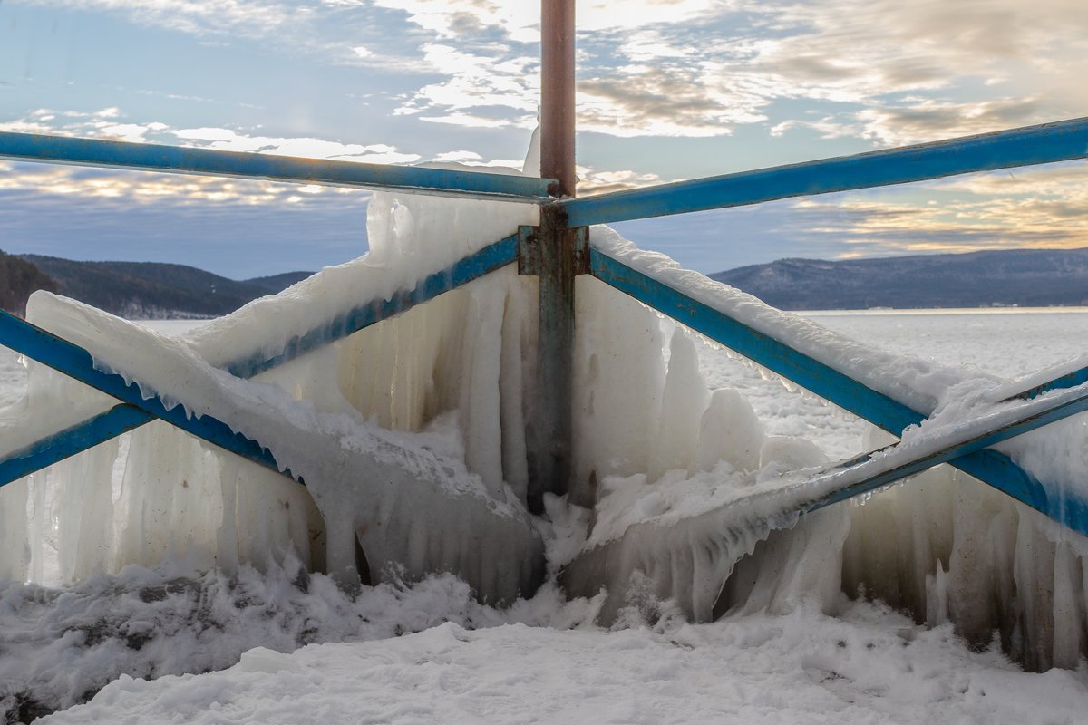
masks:
<svg viewBox="0 0 1088 725"><path fill-rule="evenodd" d="M1088 339L1088 310L809 316L1003 377L1080 355ZM710 387L740 389L768 434L804 436L832 459L860 451L857 421L722 350L704 346L701 361ZM21 375L0 350L0 407ZM597 605L547 587L498 611L449 576L351 599L279 567L200 580L129 567L63 592L12 587L0 595L0 712L34 714L35 695L78 701L122 672L157 678L122 675L48 721L1079 723L1088 708L1084 664L1027 674L997 647L970 651L951 625L926 630L879 603L691 625L646 595L615 630L592 624Z"/></svg>

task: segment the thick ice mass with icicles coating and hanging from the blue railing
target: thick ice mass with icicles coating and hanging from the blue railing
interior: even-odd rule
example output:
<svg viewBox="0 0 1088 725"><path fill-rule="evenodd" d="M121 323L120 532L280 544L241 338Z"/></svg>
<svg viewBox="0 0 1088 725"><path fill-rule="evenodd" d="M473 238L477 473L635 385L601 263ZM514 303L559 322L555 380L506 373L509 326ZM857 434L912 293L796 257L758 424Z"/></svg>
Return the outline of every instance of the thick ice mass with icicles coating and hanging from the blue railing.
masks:
<svg viewBox="0 0 1088 725"><path fill-rule="evenodd" d="M374 195L366 257L174 341L36 297L29 314L37 324L79 340L100 365L149 392L261 440L310 490L151 424L0 490L0 578L40 580L47 536L55 536L64 582L170 558L198 570L260 567L289 551L310 567L344 571L356 562L355 532L376 577L391 560L415 573L455 568L481 593L508 598L530 575L496 562L522 561L536 546L522 536L536 392L533 278L500 271L250 383L215 368L275 357L293 338L410 287L536 215L524 205ZM942 421L954 428L1005 389L977 371L873 350L638 250L610 229L591 236L608 254L874 389L937 410L937 420L906 435L919 447L940 442L930 434ZM783 492L779 477L801 471L789 480L804 479L826 462L821 451L767 436L743 396L709 390L689 334L670 336L642 304L589 276L578 278L577 304L573 475L595 507L581 547L553 540L548 563L568 564L569 593L594 596L607 585L604 620L618 615L632 578L697 620L781 611L804 598L836 611L840 591L864 589L931 624L951 618L972 641L998 632L1033 667L1074 665L1088 652L1081 537L943 470L799 523L796 507L813 491ZM119 339L126 347L111 347ZM109 404L36 367L26 399L5 413L3 439L14 448ZM44 409L55 411L49 430L26 424ZM1074 420L1002 450L1061 490L1088 471L1084 443L1083 422ZM362 471L371 475L360 477L369 480L359 484L368 492L360 500L360 489L344 483ZM394 492L379 490L383 476L396 482ZM404 525L379 535L370 524L391 512ZM505 534L503 522L512 526ZM491 540L470 540L480 536ZM466 560L470 551L480 555Z"/></svg>

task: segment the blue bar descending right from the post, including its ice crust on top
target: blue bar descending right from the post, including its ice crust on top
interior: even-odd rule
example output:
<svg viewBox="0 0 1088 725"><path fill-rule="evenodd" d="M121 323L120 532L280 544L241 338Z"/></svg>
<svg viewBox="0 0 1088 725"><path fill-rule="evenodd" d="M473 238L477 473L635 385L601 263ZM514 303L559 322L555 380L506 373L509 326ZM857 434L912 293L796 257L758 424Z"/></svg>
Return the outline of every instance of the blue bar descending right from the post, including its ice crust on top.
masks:
<svg viewBox="0 0 1088 725"><path fill-rule="evenodd" d="M668 258L639 250L615 233L594 237L589 270L611 287L895 436L920 425L934 412L942 388L956 382L919 370L917 361L857 345L750 295L682 270ZM994 390L994 401L1030 397L1041 389L1073 387L1080 384L1086 372L1063 373L1043 384L1031 380L1023 389L1003 386ZM1074 412L1068 409L1053 420ZM1053 420L1036 421L1022 433ZM961 451L950 462L1088 535L1088 504L1081 498L1068 491L1055 496L1007 455L994 450ZM857 490L854 496L864 492Z"/></svg>

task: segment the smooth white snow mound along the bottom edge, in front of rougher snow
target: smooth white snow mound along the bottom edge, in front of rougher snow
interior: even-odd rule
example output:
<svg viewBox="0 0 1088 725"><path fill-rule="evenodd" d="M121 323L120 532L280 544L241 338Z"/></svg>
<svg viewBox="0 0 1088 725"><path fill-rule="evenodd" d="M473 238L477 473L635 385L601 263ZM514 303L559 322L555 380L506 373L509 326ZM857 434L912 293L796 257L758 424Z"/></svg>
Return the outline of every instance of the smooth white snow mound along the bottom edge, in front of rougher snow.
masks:
<svg viewBox="0 0 1088 725"><path fill-rule="evenodd" d="M948 625L805 608L618 632L448 622L391 640L259 647L223 672L122 677L65 723L1074 723L1079 675L1028 675Z"/></svg>

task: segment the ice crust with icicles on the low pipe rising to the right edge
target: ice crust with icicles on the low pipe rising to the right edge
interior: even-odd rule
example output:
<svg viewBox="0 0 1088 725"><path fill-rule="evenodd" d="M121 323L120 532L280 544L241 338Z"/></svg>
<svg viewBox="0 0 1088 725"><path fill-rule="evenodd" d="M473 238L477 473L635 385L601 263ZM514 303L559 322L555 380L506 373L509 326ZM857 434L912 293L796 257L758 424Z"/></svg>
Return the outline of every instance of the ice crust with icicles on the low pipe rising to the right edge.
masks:
<svg viewBox="0 0 1088 725"><path fill-rule="evenodd" d="M975 387L985 389L980 385ZM948 450L982 432L1011 422L1025 412L1041 410L1053 405L1054 401L1072 399L1083 393L1084 390L1074 388L1052 391L1031 401L993 404L986 402L985 396L976 396L974 403L950 403L923 426L908 430L903 442L895 448L881 451L862 464L831 470L829 473L807 468L782 478L759 476L753 479L751 475L739 474L727 464L721 464L714 472L705 472L687 480L672 483L666 476L653 487L646 487L644 478L625 482L606 479L604 488L607 493L598 509L596 526L583 551L567 565L565 585L572 593L582 595L593 586L591 583L606 579L610 596L603 615L615 616L619 607L617 593L627 588L631 577L644 575L653 582L658 596L675 598L689 616L708 618L734 563L753 554L757 542L772 530L793 526L799 513L809 504L877 473L892 471L916 457ZM969 397L960 400L969 400ZM815 454L819 452L812 452L814 457L806 460L802 446L784 446L781 442L777 446L765 445L764 463L818 463L819 458ZM734 458L741 457L734 452ZM778 461L768 460L772 458ZM769 562L771 572L794 573L775 575L764 574L761 570L761 576L769 577L772 584L755 587L741 599L754 597L755 592L768 587L784 587L799 597L804 592L805 596L818 596L821 601L827 601L828 590L818 586L828 582L827 576L814 577L809 583L812 586L795 583L802 574L811 574L814 567L837 571L836 564L827 564L827 555L816 557L818 566L799 564L794 560L798 557L809 557L805 552L811 552L814 548L834 553L836 559L840 555L838 552L841 552L841 543L848 530L843 525L848 520L839 516L838 525L828 525L829 521L834 521L832 516L833 514L821 514L815 520L824 522L823 524L806 521L802 528L792 533L791 543L775 546L768 542L764 558L765 564ZM965 523L963 528L967 530L968 525ZM840 532L841 536L832 535L831 532ZM1081 538L1075 534L1070 536L1074 539ZM796 545L796 537L802 537L807 543ZM963 571L966 573L972 570ZM956 578L961 576L959 572L953 576L950 570L942 568L936 576L939 579L944 574L949 574L950 580L956 586L961 584L961 579ZM1043 574L1042 578L1051 583L1051 576ZM783 585L780 580L782 577L792 584ZM930 589L947 590L951 585L935 579L927 586ZM1038 585L1028 588L1037 589ZM1071 585L1063 590L1072 588ZM838 587L832 589L837 590ZM980 589L976 586L973 593L987 593ZM936 591L936 596L940 598L944 595ZM954 597L947 598L954 600ZM925 600L927 609L930 599L932 597ZM780 598L765 591L762 600L774 602ZM920 603L916 598L915 604ZM1049 616L1050 613L1047 612L1046 615ZM938 611L934 616L939 617L941 613ZM1031 611L1026 616L1030 626L1036 628L1046 618ZM970 617L964 615L964 626L972 629ZM1025 624L1027 626L1029 625ZM1041 632L1028 632L1023 636L1034 642L1035 647L1041 646L1039 642L1052 642L1047 639L1046 628ZM1038 652L1033 657L1031 662L1049 662L1049 659Z"/></svg>

